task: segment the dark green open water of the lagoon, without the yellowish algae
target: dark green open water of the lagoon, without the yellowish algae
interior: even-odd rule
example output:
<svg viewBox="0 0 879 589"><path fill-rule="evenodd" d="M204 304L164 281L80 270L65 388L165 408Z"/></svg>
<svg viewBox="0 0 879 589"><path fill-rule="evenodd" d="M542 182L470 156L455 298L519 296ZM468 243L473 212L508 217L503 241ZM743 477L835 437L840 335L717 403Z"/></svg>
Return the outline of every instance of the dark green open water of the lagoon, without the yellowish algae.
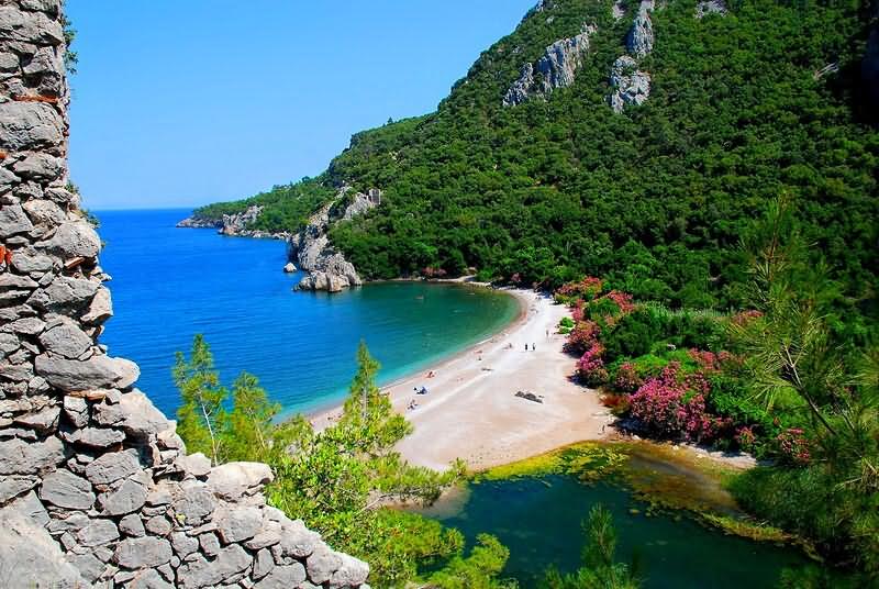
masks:
<svg viewBox="0 0 879 589"><path fill-rule="evenodd" d="M648 516L626 489L587 486L565 475L472 484L425 514L457 527L469 542L480 532L498 536L510 548L505 576L528 588L539 587L535 575L550 564L563 571L578 567L580 522L596 503L614 515L617 559L634 559L647 589L770 588L782 568L806 562L795 548L724 535L687 515Z"/></svg>

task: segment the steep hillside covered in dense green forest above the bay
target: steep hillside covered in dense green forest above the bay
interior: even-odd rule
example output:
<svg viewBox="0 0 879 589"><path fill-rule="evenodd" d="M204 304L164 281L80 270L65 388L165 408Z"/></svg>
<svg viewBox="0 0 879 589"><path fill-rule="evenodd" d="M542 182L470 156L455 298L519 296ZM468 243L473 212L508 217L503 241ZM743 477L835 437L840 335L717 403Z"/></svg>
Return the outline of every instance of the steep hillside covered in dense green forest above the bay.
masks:
<svg viewBox="0 0 879 589"><path fill-rule="evenodd" d="M299 200L334 187L380 187L381 207L331 232L367 278L475 267L557 286L591 274L636 297L725 308L741 300L742 235L788 195L813 262L839 281L841 313L874 315L868 2L736 0L701 19L696 1L659 3L655 45L638 63L649 99L621 114L608 104L609 74L638 5L614 19L612 4L543 2L435 113L358 133L321 177L258 197L260 229L298 229ZM597 31L572 85L503 104L523 64L586 25Z"/></svg>

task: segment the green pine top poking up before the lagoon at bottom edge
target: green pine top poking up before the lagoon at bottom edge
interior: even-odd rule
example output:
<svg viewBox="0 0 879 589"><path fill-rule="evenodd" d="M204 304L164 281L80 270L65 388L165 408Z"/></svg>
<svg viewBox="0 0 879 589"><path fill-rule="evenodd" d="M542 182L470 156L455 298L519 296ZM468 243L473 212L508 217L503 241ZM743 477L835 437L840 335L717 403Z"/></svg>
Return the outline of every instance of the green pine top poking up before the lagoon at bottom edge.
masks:
<svg viewBox="0 0 879 589"><path fill-rule="evenodd" d="M630 568L615 562L616 529L613 515L601 504L589 512L589 521L583 522L587 544L583 548L582 564L576 573L563 575L550 568L542 582L548 589L637 589L641 581Z"/></svg>

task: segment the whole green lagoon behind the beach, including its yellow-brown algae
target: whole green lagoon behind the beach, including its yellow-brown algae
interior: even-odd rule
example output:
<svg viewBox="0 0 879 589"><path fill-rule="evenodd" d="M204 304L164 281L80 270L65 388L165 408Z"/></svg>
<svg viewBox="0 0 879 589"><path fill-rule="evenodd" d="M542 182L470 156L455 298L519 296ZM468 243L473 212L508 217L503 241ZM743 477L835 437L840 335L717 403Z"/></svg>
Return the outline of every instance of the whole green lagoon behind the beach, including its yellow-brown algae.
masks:
<svg viewBox="0 0 879 589"><path fill-rule="evenodd" d="M419 512L457 527L469 543L479 533L498 536L510 548L502 576L523 588L541 587L549 566L567 573L580 566L582 522L598 503L614 516L617 562L632 566L648 589L771 588L782 569L809 563L780 537L756 542L709 524L701 513L744 514L720 476L669 458L667 447L590 446L602 449L587 453L592 466L580 473L547 468L546 460L532 460L520 474L503 467L477 475ZM605 468L604 448L615 456L612 468Z"/></svg>

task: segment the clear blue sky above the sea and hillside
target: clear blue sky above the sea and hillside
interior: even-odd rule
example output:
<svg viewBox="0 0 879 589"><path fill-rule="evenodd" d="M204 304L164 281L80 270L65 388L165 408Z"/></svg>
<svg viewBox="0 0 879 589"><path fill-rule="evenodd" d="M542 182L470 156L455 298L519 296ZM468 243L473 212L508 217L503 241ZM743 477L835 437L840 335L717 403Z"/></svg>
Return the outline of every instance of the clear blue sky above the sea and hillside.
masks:
<svg viewBox="0 0 879 589"><path fill-rule="evenodd" d="M315 176L436 109L536 0L67 0L70 175L94 210L196 207Z"/></svg>

